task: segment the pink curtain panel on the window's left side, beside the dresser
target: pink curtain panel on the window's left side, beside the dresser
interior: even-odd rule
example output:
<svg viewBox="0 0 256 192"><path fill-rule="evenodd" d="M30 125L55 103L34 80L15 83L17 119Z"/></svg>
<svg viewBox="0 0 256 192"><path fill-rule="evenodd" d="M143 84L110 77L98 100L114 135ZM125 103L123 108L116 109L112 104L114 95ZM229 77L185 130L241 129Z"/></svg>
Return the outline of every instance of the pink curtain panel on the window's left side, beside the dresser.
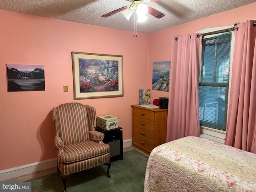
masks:
<svg viewBox="0 0 256 192"><path fill-rule="evenodd" d="M166 142L200 133L198 82L202 36L197 35L172 38Z"/></svg>

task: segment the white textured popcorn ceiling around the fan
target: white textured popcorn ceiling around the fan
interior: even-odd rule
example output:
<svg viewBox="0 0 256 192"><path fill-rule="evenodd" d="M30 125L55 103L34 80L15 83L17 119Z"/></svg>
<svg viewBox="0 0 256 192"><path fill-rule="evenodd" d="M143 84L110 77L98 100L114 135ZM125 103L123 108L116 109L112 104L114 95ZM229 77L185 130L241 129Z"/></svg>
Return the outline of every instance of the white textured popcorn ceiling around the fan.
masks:
<svg viewBox="0 0 256 192"><path fill-rule="evenodd" d="M166 14L138 23L137 31L153 33L192 20L251 4L256 0L158 0L145 3ZM0 10L19 12L72 22L134 31L134 14L130 21L121 12L107 18L100 16L129 6L127 0L0 0Z"/></svg>

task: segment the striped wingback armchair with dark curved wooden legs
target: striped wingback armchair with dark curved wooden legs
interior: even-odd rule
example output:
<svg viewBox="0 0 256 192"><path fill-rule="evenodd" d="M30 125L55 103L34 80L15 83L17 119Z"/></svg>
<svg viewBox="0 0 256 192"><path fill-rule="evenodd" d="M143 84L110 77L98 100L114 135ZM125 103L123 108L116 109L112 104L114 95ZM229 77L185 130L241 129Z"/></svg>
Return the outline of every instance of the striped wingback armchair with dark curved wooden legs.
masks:
<svg viewBox="0 0 256 192"><path fill-rule="evenodd" d="M110 146L102 142L104 134L94 130L95 108L80 103L66 103L52 109L58 168L64 192L66 177L70 173L86 170L101 164L108 165Z"/></svg>

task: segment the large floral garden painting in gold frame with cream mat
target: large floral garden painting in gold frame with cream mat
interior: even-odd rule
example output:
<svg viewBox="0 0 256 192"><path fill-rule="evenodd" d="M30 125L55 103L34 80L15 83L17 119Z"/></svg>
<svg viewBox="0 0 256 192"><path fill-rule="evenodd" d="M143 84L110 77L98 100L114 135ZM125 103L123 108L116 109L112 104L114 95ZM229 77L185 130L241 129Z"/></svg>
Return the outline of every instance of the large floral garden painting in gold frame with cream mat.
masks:
<svg viewBox="0 0 256 192"><path fill-rule="evenodd" d="M72 52L74 99L124 96L123 56Z"/></svg>

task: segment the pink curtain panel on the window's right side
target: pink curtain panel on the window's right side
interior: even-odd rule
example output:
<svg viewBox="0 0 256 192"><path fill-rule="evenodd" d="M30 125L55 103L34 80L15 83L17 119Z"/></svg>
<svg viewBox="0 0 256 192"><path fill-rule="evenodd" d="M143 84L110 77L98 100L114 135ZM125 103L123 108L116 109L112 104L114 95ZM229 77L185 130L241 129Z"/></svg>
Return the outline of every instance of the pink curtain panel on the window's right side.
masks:
<svg viewBox="0 0 256 192"><path fill-rule="evenodd" d="M256 21L235 33L230 104L225 144L256 153Z"/></svg>

